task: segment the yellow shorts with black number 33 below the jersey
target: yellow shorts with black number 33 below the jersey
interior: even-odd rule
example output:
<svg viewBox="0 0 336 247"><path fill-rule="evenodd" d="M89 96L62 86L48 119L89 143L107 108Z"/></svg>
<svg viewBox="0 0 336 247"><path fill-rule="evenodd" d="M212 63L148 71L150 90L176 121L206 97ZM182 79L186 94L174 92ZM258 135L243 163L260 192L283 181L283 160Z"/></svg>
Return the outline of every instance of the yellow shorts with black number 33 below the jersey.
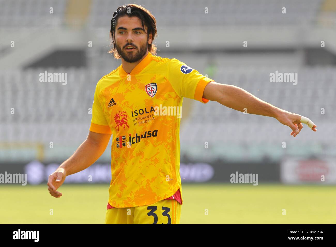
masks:
<svg viewBox="0 0 336 247"><path fill-rule="evenodd" d="M176 200L162 200L151 205L110 208L106 224L179 224L181 204Z"/></svg>

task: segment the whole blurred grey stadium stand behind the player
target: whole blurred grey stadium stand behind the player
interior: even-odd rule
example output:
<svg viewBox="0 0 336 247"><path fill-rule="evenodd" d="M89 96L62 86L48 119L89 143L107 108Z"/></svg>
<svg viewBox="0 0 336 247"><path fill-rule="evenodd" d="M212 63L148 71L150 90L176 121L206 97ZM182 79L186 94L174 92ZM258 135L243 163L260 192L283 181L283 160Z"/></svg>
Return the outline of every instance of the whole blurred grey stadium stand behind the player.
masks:
<svg viewBox="0 0 336 247"><path fill-rule="evenodd" d="M335 2L133 2L148 8L157 18L158 56L176 57L219 83L242 87L272 105L318 123L318 134L304 126L304 133L294 139L290 129L275 119L245 115L215 102L203 105L184 99L183 109L188 111L182 111L181 160L252 161L264 157L279 160L285 155L336 155ZM62 161L88 134L88 109L95 85L121 64L107 51L112 14L125 2L79 3L0 1L2 161ZM50 7L53 14L49 13ZM209 14L204 14L205 7ZM285 15L282 7L286 7ZM165 47L168 38L171 47ZM10 47L11 40L16 42L15 48ZM242 47L244 40L248 40L247 48ZM323 49L321 40L326 40ZM93 47L88 47L88 41ZM82 51L84 58L83 54L67 57L68 65L59 67L62 59L56 59L55 52L75 50ZM46 70L68 73L68 84L39 82L39 74ZM298 84L269 82L269 74L275 71L297 72ZM15 109L14 115L10 114L11 108ZM325 109L323 115L321 108ZM49 148L50 141L53 149ZM205 141L209 142L208 149L204 148ZM281 148L283 141L289 148ZM111 159L110 148L101 159Z"/></svg>

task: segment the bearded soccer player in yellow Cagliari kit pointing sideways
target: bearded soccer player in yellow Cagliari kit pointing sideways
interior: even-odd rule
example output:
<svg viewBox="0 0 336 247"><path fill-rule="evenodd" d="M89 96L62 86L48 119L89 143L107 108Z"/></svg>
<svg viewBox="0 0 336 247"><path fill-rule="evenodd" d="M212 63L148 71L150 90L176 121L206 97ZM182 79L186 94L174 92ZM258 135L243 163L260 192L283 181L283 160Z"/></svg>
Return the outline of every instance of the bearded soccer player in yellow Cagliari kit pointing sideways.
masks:
<svg viewBox="0 0 336 247"><path fill-rule="evenodd" d="M289 126L294 137L301 122L316 131L308 118L272 106L242 88L216 83L175 58L156 56L156 35L156 19L145 8L129 4L114 12L110 53L121 58L121 65L96 85L86 140L48 179L50 194L61 197L57 189L66 176L93 164L112 134L105 223L179 223L183 97L274 117Z"/></svg>

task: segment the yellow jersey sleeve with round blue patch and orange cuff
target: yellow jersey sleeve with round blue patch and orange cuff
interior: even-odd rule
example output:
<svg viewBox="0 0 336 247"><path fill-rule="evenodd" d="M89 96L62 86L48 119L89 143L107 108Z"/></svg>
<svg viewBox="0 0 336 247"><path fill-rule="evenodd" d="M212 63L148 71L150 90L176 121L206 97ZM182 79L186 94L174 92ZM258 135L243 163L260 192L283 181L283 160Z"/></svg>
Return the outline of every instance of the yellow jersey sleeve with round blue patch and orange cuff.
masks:
<svg viewBox="0 0 336 247"><path fill-rule="evenodd" d="M204 104L209 101L203 98L203 91L205 86L214 80L200 74L176 58L169 61L167 79L180 97L196 99Z"/></svg>

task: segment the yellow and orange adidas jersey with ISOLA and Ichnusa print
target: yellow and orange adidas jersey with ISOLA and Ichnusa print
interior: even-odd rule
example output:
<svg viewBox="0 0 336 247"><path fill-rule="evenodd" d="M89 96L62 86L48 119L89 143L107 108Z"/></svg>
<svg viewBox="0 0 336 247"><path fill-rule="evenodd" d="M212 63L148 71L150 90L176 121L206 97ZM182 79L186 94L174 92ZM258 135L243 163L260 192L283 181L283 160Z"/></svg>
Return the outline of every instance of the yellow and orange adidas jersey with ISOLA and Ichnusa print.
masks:
<svg viewBox="0 0 336 247"><path fill-rule="evenodd" d="M112 207L153 204L178 189L182 197L182 100L208 102L202 96L210 81L175 58L150 52L130 74L120 65L98 81L90 131L112 133Z"/></svg>

